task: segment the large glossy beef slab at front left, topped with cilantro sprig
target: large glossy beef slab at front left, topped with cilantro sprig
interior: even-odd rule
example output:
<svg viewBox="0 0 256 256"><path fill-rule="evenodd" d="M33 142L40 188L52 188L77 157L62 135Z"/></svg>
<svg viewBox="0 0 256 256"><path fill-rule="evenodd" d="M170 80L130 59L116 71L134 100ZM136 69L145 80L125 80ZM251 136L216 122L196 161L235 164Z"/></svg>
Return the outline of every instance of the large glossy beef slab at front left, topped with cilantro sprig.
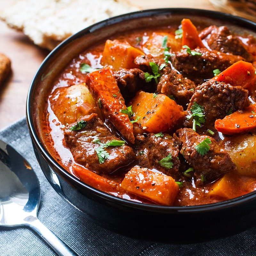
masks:
<svg viewBox="0 0 256 256"><path fill-rule="evenodd" d="M123 145L104 148L109 156L100 164L95 151L100 145L93 140L97 138L101 143L107 143L111 140L120 140L120 138L108 130L97 114L84 116L80 120L86 122L85 128L71 131L70 128L77 124L74 123L68 125L64 131L64 139L76 163L84 165L89 170L105 173L111 173L132 163L135 159L135 153L132 148Z"/></svg>

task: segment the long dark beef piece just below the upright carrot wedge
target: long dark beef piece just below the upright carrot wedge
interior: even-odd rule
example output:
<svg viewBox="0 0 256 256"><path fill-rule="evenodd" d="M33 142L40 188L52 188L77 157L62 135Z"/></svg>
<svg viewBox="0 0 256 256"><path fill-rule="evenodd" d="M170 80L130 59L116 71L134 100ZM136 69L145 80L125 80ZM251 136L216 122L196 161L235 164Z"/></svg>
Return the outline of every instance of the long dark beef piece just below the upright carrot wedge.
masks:
<svg viewBox="0 0 256 256"><path fill-rule="evenodd" d="M191 55L187 51L176 52L172 56L172 64L183 76L196 81L212 78L214 69L223 71L235 62L244 60L240 56L210 51L206 48L196 48L194 51L202 55Z"/></svg>

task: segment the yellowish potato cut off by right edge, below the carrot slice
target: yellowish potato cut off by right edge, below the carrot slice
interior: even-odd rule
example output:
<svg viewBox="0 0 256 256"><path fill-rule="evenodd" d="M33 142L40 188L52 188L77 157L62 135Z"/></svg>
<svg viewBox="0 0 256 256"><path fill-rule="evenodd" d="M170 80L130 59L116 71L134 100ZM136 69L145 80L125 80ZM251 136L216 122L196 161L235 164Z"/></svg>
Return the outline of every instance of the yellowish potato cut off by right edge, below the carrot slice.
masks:
<svg viewBox="0 0 256 256"><path fill-rule="evenodd" d="M256 177L256 132L227 137L225 149L242 176Z"/></svg>

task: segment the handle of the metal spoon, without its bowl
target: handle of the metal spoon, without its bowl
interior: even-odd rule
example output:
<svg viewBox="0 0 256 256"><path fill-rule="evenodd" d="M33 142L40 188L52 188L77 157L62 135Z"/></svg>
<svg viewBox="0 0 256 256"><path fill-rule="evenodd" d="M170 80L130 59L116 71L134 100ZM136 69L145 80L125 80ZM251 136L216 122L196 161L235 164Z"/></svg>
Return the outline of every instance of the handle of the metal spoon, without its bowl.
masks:
<svg viewBox="0 0 256 256"><path fill-rule="evenodd" d="M30 218L29 218L30 217ZM60 256L77 256L59 237L54 235L52 231L44 226L44 224L34 216L26 218L25 225L33 229L41 236Z"/></svg>

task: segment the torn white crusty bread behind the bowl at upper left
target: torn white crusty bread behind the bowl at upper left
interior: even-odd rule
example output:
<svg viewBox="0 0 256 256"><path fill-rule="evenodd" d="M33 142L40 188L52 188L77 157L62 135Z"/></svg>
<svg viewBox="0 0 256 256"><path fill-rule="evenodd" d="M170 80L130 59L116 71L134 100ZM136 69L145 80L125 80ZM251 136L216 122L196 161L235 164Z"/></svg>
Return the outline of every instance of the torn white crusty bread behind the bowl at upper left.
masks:
<svg viewBox="0 0 256 256"><path fill-rule="evenodd" d="M6 3L7 2L7 3ZM0 18L35 44L52 50L77 31L100 20L139 10L125 0L8 0Z"/></svg>

